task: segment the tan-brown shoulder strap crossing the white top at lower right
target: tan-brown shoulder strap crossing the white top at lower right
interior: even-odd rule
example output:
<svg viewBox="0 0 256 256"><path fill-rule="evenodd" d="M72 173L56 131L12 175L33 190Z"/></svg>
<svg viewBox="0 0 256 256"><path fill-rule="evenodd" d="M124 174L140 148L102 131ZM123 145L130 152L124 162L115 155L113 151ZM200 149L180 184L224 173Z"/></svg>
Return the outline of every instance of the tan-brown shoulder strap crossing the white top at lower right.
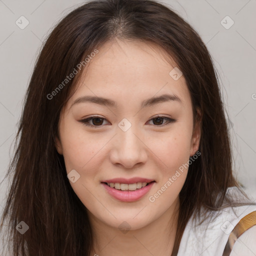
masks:
<svg viewBox="0 0 256 256"><path fill-rule="evenodd" d="M256 211L250 212L236 224L229 234L222 256L228 256L237 238L253 225L256 225Z"/></svg>

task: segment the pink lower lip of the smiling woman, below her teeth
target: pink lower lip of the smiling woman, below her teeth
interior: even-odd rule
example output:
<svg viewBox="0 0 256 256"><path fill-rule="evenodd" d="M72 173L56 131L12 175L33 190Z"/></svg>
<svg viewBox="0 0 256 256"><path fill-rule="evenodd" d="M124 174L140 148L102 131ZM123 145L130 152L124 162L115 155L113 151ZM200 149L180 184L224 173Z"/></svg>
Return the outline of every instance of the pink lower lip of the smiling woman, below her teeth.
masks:
<svg viewBox="0 0 256 256"><path fill-rule="evenodd" d="M112 188L108 186L105 183L101 183L106 191L113 196L115 199L118 199L120 201L124 202L131 202L131 201L136 201L139 200L141 197L143 197L152 187L152 185L155 183L155 181L150 182L148 185L143 186L139 189L130 191L130 190L118 190L115 188Z"/></svg>

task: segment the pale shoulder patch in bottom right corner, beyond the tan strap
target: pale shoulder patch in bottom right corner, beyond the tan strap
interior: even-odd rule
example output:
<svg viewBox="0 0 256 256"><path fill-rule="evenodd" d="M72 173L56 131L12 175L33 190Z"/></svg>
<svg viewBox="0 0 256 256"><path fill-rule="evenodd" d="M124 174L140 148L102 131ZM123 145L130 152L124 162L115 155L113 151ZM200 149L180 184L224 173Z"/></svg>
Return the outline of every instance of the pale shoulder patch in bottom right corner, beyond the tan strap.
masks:
<svg viewBox="0 0 256 256"><path fill-rule="evenodd" d="M230 256L256 255L256 225L247 229L235 241Z"/></svg>

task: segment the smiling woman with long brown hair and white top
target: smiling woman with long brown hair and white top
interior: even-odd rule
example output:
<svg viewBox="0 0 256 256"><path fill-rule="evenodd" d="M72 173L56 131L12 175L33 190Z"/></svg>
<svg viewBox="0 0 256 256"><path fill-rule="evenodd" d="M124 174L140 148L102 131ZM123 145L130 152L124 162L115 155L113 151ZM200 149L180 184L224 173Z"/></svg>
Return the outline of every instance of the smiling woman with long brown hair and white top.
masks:
<svg viewBox="0 0 256 256"><path fill-rule="evenodd" d="M255 238L210 55L155 1L91 1L64 17L17 136L2 217L12 255L216 256Z"/></svg>

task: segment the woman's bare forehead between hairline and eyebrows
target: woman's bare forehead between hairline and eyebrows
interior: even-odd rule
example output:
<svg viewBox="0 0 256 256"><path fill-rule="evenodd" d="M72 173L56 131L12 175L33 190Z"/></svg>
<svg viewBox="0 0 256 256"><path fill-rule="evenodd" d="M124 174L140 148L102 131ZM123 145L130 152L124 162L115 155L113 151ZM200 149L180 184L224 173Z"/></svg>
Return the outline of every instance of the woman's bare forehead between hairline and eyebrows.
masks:
<svg viewBox="0 0 256 256"><path fill-rule="evenodd" d="M83 69L70 104L83 95L113 98L121 103L171 93L189 101L183 75L173 79L170 72L176 64L160 46L113 40L97 49Z"/></svg>

